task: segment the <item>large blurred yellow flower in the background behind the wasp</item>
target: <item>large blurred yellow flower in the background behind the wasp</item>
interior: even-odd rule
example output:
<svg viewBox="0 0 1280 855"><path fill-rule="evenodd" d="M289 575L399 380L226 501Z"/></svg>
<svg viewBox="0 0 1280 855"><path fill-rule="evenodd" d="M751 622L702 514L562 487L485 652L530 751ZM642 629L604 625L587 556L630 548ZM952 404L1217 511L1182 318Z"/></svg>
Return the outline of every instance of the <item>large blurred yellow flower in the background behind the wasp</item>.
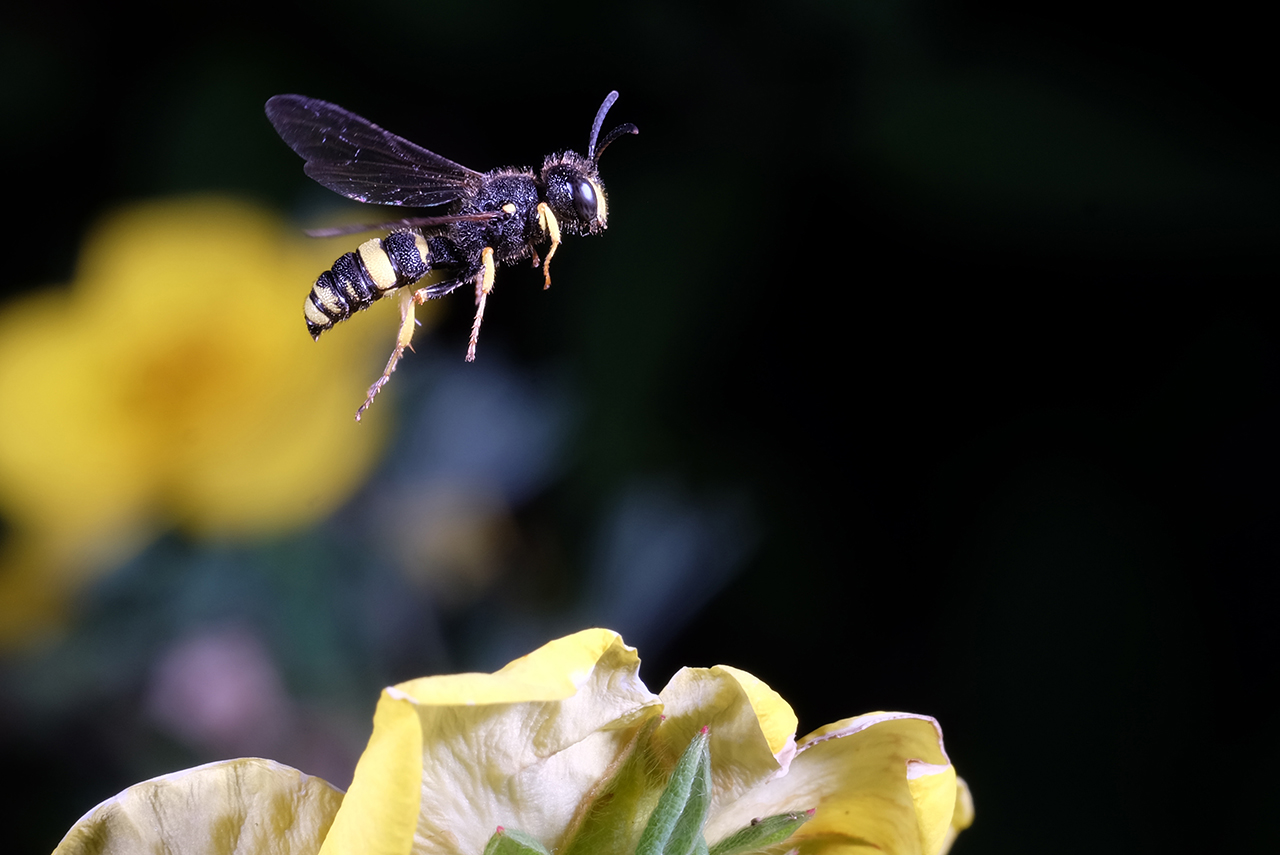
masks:
<svg viewBox="0 0 1280 855"><path fill-rule="evenodd" d="M358 486L385 431L352 411L396 319L311 342L302 300L342 251L244 202L138 205L69 289L0 310L0 645L165 527L275 532Z"/></svg>

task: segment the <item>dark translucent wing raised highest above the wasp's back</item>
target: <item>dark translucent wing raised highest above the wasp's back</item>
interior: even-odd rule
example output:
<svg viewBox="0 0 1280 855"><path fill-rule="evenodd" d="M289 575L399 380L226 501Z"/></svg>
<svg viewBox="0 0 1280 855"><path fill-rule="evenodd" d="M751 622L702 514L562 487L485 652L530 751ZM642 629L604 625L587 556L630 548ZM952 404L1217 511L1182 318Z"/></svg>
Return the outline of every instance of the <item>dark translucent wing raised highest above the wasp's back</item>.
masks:
<svg viewBox="0 0 1280 855"><path fill-rule="evenodd" d="M276 95L266 102L266 118L306 160L307 175L358 202L444 205L481 178L328 101Z"/></svg>

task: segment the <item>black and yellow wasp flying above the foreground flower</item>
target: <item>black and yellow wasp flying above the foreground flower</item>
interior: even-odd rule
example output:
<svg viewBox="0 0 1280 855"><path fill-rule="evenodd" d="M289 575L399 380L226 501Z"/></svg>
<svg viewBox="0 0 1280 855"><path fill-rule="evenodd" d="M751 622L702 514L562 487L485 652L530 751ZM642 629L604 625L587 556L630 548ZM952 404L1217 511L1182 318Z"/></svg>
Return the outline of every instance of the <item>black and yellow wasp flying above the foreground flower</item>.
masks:
<svg viewBox="0 0 1280 855"><path fill-rule="evenodd" d="M508 168L488 173L456 164L335 104L301 95L276 95L266 102L266 118L276 133L306 161L302 170L333 192L370 205L448 205L440 216L308 232L334 237L390 229L387 237L365 241L334 261L302 303L307 332L319 339L338 321L399 292L396 347L383 375L369 387L356 421L410 347L417 305L475 284L476 316L467 344L471 362L497 265L532 259L534 266L543 266L543 288L550 288L550 261L561 237L604 230L608 205L600 155L618 137L639 133L628 122L600 138L604 114L617 99L617 92L609 92L596 111L585 157L563 151L548 155L538 172ZM536 247L548 242L547 256L540 259ZM431 271L439 278L424 288L412 287Z"/></svg>

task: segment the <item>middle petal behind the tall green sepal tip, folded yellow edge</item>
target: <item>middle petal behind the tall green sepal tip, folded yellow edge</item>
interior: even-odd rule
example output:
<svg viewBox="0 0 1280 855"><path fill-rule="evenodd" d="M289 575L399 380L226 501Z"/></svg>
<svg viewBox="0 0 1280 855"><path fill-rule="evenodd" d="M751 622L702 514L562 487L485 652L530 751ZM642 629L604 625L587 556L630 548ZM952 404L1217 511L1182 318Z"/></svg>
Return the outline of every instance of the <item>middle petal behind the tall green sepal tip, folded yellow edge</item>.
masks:
<svg viewBox="0 0 1280 855"><path fill-rule="evenodd" d="M710 730L713 815L786 772L795 754L795 713L776 691L745 671L728 666L681 668L659 698L666 719L654 741L668 764L703 726Z"/></svg>

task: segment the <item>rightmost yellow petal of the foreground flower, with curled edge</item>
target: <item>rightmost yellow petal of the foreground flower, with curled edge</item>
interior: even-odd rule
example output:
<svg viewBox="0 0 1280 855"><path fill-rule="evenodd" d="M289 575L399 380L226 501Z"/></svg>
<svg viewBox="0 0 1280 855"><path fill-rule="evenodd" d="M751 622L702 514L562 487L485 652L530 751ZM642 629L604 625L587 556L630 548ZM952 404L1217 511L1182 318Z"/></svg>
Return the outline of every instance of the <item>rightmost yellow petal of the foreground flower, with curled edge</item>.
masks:
<svg viewBox="0 0 1280 855"><path fill-rule="evenodd" d="M803 739L787 773L713 815L707 840L716 842L758 817L817 808L787 843L801 855L934 855L951 826L955 786L933 718L869 713Z"/></svg>

